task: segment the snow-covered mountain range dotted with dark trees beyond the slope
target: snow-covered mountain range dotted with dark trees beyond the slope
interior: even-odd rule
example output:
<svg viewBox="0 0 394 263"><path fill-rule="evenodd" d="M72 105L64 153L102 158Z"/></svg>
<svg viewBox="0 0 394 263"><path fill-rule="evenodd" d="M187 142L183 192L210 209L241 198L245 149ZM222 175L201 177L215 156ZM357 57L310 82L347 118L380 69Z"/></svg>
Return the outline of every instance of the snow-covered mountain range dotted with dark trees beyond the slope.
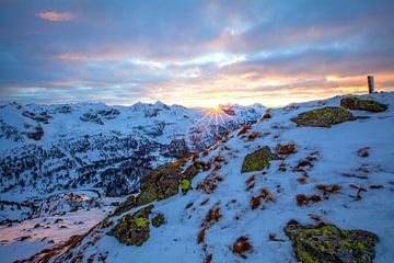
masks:
<svg viewBox="0 0 394 263"><path fill-rule="evenodd" d="M104 103L0 106L0 192L45 194L80 187L117 196L138 192L139 178L161 163L200 151L266 110ZM227 114L233 112L234 114Z"/></svg>

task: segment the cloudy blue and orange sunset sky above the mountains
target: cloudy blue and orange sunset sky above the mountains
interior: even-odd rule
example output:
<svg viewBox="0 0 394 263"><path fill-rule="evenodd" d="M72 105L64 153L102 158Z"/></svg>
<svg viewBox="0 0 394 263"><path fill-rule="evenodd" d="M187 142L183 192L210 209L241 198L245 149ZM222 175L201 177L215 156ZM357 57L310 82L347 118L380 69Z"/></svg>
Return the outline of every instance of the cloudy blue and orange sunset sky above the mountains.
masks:
<svg viewBox="0 0 394 263"><path fill-rule="evenodd" d="M394 91L392 0L0 0L0 103L281 106Z"/></svg>

